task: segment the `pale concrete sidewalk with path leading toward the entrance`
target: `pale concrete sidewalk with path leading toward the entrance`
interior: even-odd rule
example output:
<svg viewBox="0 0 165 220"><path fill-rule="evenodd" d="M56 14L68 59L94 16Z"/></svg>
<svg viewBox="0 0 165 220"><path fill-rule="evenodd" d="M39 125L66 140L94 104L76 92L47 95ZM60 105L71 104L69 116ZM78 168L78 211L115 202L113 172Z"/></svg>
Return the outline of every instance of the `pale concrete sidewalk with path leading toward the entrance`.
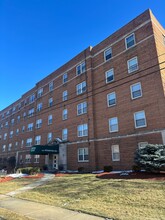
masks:
<svg viewBox="0 0 165 220"><path fill-rule="evenodd" d="M0 207L18 213L20 215L36 219L36 220L103 220L104 218L96 217L81 212L70 211L67 209L44 205L37 202L27 201L14 198L14 195L22 193L26 190L33 189L43 185L54 178L54 175L46 174L44 178L29 184L26 187L16 191L0 195Z"/></svg>

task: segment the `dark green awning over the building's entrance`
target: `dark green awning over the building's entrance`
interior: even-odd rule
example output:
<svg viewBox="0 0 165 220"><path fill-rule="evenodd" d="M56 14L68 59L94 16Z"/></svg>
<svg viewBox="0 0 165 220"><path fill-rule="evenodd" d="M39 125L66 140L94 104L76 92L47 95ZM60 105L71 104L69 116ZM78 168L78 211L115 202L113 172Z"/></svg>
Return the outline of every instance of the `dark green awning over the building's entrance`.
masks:
<svg viewBox="0 0 165 220"><path fill-rule="evenodd" d="M30 149L30 154L33 155L59 154L59 144L34 145Z"/></svg>

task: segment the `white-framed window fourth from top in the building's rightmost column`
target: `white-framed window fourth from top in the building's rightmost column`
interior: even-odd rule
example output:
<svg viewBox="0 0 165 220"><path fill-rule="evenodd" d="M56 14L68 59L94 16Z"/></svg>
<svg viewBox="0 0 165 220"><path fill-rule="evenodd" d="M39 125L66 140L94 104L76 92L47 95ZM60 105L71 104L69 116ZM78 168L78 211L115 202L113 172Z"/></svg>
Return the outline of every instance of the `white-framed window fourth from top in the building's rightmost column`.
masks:
<svg viewBox="0 0 165 220"><path fill-rule="evenodd" d="M146 127L146 116L144 111L134 113L135 128Z"/></svg>

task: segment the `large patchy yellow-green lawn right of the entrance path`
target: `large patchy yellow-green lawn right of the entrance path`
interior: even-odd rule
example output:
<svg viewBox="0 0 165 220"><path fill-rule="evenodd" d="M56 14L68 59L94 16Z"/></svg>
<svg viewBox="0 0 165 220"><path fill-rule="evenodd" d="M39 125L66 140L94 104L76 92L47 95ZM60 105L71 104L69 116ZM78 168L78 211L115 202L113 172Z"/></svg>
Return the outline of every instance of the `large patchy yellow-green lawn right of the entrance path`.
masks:
<svg viewBox="0 0 165 220"><path fill-rule="evenodd" d="M78 174L56 177L17 197L115 220L165 220L164 181L99 179Z"/></svg>

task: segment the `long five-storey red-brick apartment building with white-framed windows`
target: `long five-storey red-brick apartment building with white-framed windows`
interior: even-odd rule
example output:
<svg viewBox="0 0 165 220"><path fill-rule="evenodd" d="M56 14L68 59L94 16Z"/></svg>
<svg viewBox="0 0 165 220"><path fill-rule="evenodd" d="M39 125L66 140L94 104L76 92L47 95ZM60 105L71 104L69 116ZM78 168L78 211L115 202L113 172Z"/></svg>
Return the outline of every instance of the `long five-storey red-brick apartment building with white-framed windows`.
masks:
<svg viewBox="0 0 165 220"><path fill-rule="evenodd" d="M0 164L131 169L138 146L165 144L164 112L165 30L146 10L0 112Z"/></svg>

